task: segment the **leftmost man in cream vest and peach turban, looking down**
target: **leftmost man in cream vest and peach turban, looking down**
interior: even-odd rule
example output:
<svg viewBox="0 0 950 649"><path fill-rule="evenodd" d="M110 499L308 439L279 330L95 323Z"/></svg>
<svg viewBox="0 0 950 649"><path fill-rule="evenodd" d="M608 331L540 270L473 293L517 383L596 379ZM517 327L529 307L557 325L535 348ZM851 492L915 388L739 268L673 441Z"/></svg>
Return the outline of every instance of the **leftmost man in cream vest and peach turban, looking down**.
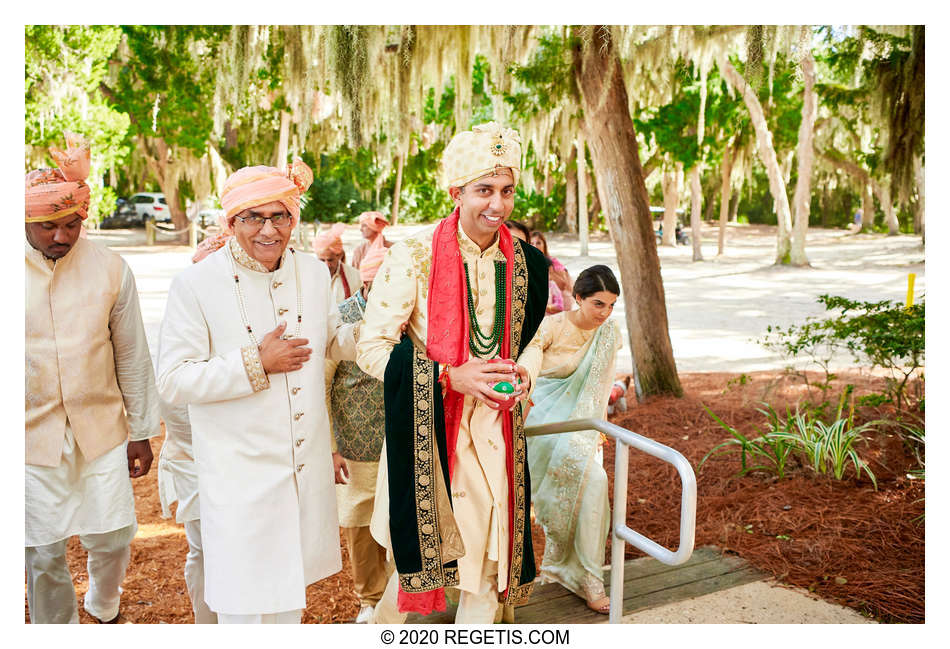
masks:
<svg viewBox="0 0 950 649"><path fill-rule="evenodd" d="M50 153L60 167L26 177L27 602L33 623L79 622L66 565L78 534L83 606L116 622L137 529L130 477L151 466L158 395L132 273L80 238L89 148L67 135Z"/></svg>

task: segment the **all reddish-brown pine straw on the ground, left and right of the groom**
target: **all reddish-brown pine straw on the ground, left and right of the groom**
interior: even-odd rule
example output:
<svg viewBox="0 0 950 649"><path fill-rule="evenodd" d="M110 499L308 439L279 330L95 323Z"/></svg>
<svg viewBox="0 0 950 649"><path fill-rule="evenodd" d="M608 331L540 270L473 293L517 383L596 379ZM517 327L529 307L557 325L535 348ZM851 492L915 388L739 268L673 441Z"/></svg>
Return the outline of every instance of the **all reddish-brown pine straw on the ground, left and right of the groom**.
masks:
<svg viewBox="0 0 950 649"><path fill-rule="evenodd" d="M781 582L813 591L823 599L851 606L885 622L924 621L924 485L909 480L913 460L899 439L882 433L860 449L878 479L834 481L797 468L777 481L750 474L735 477L736 456L712 459L697 468L710 448L727 434L705 413L705 403L725 422L752 433L764 418L755 412L762 399L784 412L807 396L800 379L782 372L754 372L740 384L735 374L681 374L682 399L653 398L633 405L619 425L681 452L697 474L696 545L717 545L743 557ZM836 393L845 383L857 395L880 390L881 380L865 372L839 373ZM814 376L812 380L814 380ZM730 381L732 381L730 383ZM812 391L814 396L814 390ZM862 420L887 416L886 407L865 408ZM156 461L161 438L152 440ZM604 466L613 490L613 444ZM156 466L134 484L139 534L123 583L122 622L191 623L191 605L182 569L188 545L184 529L161 518ZM632 451L628 489L628 525L668 548L678 543L679 477L669 465ZM534 526L535 556L543 555L544 537ZM779 538L782 537L782 538ZM785 538L787 537L787 538ZM86 553L77 538L67 557L79 601L80 621L94 620L82 610L88 588ZM352 592L349 557L341 548L343 570L307 589L305 623L351 622L359 611ZM608 541L607 554L610 556ZM626 556L641 553L627 547ZM24 598L25 619L29 620Z"/></svg>

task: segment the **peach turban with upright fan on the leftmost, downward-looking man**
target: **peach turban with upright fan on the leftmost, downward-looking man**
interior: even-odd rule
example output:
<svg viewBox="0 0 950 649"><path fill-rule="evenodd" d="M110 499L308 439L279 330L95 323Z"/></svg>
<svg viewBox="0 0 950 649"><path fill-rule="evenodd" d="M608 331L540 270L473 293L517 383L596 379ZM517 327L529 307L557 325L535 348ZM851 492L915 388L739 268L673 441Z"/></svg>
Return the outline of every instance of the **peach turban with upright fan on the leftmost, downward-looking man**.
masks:
<svg viewBox="0 0 950 649"><path fill-rule="evenodd" d="M66 133L66 150L50 147L58 169L35 169L26 174L26 222L37 223L78 214L89 216L89 144Z"/></svg>

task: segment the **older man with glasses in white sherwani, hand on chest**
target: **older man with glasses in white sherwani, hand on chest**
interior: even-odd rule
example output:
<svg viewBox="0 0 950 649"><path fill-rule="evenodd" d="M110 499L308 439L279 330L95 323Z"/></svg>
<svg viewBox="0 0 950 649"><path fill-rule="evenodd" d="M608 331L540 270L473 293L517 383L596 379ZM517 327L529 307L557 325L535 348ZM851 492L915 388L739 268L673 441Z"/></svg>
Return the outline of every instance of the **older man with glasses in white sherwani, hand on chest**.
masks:
<svg viewBox="0 0 950 649"><path fill-rule="evenodd" d="M221 203L234 237L168 295L159 391L189 406L218 623L299 622L307 585L342 568L345 463L331 457L323 360L353 358L353 331L326 268L287 247L312 180L299 160L232 174Z"/></svg>

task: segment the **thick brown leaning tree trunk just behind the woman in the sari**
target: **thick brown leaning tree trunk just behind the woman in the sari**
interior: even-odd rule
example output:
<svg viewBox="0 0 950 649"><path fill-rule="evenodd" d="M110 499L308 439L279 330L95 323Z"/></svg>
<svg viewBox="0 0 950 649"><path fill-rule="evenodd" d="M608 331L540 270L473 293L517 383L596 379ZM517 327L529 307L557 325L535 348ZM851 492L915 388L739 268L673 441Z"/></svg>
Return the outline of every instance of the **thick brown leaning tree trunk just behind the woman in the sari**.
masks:
<svg viewBox="0 0 950 649"><path fill-rule="evenodd" d="M574 74L581 90L597 189L617 249L637 396L682 396L650 202L620 60L609 30L592 29L598 43L574 46Z"/></svg>

